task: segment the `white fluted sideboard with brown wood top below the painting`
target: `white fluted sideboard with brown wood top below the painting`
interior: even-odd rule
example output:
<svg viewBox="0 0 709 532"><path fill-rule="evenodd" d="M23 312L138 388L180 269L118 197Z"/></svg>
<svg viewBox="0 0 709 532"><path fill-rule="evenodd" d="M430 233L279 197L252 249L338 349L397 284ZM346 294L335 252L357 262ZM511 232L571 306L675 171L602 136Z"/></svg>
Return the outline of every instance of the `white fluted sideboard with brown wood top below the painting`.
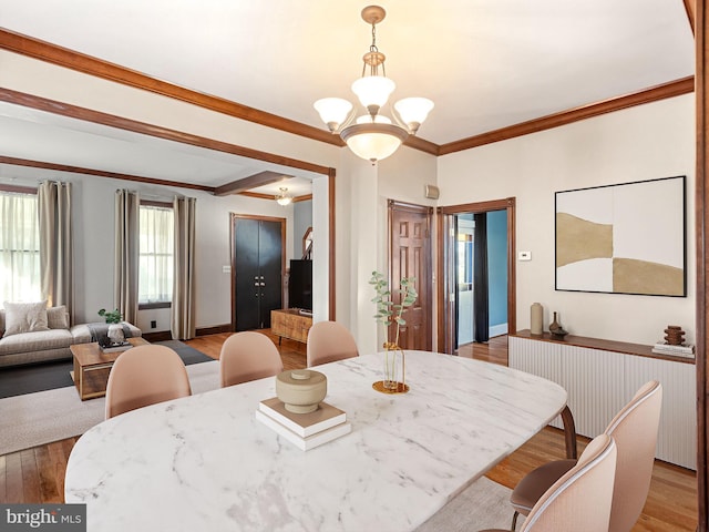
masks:
<svg viewBox="0 0 709 532"><path fill-rule="evenodd" d="M563 386L576 432L594 438L648 380L662 383L657 458L697 469L695 360L653 354L651 346L528 329L510 335L510 367ZM561 421L552 423L562 428Z"/></svg>

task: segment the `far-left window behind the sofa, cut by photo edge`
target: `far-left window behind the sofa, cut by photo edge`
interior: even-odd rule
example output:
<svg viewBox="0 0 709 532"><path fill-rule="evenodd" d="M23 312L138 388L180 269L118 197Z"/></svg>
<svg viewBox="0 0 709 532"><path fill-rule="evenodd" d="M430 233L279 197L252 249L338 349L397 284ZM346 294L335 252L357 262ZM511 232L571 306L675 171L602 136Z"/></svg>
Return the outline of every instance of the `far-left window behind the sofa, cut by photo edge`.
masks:
<svg viewBox="0 0 709 532"><path fill-rule="evenodd" d="M0 304L41 298L37 194L0 191Z"/></svg>

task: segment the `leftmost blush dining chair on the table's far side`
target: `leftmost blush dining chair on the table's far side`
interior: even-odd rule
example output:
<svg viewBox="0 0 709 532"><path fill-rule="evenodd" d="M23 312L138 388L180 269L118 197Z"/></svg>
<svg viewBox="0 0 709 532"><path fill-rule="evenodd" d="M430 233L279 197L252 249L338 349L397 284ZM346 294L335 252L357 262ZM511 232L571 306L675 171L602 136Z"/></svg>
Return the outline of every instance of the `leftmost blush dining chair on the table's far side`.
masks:
<svg viewBox="0 0 709 532"><path fill-rule="evenodd" d="M154 344L132 347L116 358L109 374L105 417L191 395L179 355Z"/></svg>

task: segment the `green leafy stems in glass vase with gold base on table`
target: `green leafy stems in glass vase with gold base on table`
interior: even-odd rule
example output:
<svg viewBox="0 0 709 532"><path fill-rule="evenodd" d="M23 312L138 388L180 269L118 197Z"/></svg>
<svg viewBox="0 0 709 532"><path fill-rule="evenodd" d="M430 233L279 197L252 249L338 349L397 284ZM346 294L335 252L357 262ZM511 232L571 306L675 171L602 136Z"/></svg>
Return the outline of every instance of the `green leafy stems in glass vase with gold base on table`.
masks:
<svg viewBox="0 0 709 532"><path fill-rule="evenodd" d="M404 393L409 391L405 380L405 356L403 349L399 346L399 334L401 326L405 326L403 313L419 297L415 289L415 277L404 277L399 284L399 289L390 290L389 283L383 274L372 272L369 284L374 287L377 296L372 303L377 305L377 314L374 319L383 326L384 329L384 379L374 382L372 386L376 390L384 393ZM400 295L399 303L393 301L393 295ZM397 324L394 328L393 341L389 339L390 326ZM401 366L401 381L399 381L399 366Z"/></svg>

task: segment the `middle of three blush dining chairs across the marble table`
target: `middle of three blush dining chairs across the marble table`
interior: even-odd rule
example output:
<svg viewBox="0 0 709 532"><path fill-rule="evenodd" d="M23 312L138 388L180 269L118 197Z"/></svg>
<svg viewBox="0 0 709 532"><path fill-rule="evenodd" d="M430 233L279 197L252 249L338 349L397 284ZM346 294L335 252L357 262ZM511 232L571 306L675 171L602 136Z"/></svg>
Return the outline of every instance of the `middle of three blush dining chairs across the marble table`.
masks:
<svg viewBox="0 0 709 532"><path fill-rule="evenodd" d="M245 330L229 336L222 345L219 378L222 388L273 377L284 370L278 348L261 332Z"/></svg>

